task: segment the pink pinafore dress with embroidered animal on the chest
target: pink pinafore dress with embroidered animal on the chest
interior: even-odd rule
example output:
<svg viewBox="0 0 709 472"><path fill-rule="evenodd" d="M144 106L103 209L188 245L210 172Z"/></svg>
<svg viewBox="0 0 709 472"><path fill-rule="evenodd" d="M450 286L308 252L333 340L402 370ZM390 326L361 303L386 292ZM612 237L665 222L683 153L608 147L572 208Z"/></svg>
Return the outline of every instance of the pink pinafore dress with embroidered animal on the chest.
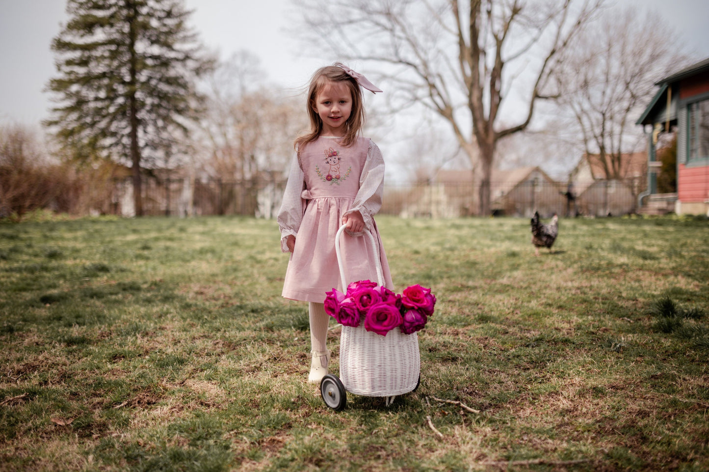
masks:
<svg viewBox="0 0 709 472"><path fill-rule="evenodd" d="M369 231L372 231L374 241L379 245L384 283L386 287L393 288L384 247L370 213L372 208L379 210L381 207L381 194L372 192L372 189L381 189L383 161L381 173L365 172L362 175L368 158L372 158L372 146L376 148L369 139L362 137L349 147L342 146L336 138L320 137L301 149L299 164L303 171L304 190L301 191L301 208L292 211L303 212L302 205L305 209L301 224L296 229L296 245L286 269L284 297L322 303L325 292L333 288L345 292L347 287L341 286L335 255L335 234L342 226L342 216L351 209L359 210L365 223L368 223ZM376 148L376 156L381 159L379 148ZM371 166L372 163L369 163ZM289 187L295 183L289 182ZM284 211L288 209L281 209L281 212ZM352 235L347 232L340 236L347 282L376 281L376 252L369 247L369 238L363 236L364 233Z"/></svg>

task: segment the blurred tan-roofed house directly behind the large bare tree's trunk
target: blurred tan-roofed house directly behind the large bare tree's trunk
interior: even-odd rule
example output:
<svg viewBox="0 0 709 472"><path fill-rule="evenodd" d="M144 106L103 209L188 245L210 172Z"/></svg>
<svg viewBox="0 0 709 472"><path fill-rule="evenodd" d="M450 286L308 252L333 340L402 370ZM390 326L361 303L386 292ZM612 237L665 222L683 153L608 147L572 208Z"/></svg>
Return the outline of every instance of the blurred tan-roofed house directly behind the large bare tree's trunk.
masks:
<svg viewBox="0 0 709 472"><path fill-rule="evenodd" d="M478 185L473 171L440 170L435 179L414 190L415 198L404 205L401 216L452 218L476 214ZM561 187L538 167L493 170L490 182L491 210L496 215L531 217L561 213L566 205Z"/></svg>

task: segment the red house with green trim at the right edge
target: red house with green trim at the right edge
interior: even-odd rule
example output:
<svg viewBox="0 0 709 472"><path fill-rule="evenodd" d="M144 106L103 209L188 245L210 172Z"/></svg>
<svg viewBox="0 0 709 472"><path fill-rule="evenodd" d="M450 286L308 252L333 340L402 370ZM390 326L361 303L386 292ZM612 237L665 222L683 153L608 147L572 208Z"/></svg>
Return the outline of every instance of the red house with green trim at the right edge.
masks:
<svg viewBox="0 0 709 472"><path fill-rule="evenodd" d="M676 214L709 215L709 58L679 70L659 82L636 124L647 133L646 207L674 203ZM657 193L657 142L661 133L677 133L677 192Z"/></svg>

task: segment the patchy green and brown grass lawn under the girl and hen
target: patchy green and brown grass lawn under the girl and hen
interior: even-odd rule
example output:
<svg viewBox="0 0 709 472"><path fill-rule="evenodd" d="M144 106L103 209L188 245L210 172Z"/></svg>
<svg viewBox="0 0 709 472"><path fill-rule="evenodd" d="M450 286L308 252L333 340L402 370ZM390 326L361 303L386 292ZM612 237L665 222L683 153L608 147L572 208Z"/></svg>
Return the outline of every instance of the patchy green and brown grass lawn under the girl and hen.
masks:
<svg viewBox="0 0 709 472"><path fill-rule="evenodd" d="M562 219L539 257L525 219L378 224L437 311L416 393L339 413L274 221L0 224L0 471L709 469L706 219Z"/></svg>

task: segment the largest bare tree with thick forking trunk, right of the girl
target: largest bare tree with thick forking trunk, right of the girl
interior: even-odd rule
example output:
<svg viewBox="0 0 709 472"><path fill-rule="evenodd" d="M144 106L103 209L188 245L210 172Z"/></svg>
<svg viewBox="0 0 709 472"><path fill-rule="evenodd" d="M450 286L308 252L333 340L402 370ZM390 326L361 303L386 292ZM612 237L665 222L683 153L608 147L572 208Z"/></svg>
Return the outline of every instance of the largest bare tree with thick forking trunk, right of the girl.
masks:
<svg viewBox="0 0 709 472"><path fill-rule="evenodd" d="M452 127L490 212L498 140L523 131L557 56L603 0L300 0L303 31L386 72L392 103L422 104ZM510 98L508 100L508 98ZM501 119L506 102L516 104ZM502 124L503 121L506 124Z"/></svg>

